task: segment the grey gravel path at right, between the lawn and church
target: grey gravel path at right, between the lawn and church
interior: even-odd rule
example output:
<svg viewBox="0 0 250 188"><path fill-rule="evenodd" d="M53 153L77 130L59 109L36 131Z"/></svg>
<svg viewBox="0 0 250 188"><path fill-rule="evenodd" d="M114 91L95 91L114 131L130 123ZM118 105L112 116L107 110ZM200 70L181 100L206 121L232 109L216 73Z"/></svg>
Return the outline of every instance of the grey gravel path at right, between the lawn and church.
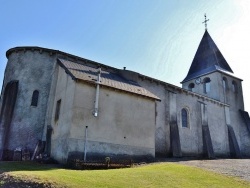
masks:
<svg viewBox="0 0 250 188"><path fill-rule="evenodd" d="M172 161L189 166L196 166L225 175L236 176L250 181L250 159L216 159Z"/></svg>

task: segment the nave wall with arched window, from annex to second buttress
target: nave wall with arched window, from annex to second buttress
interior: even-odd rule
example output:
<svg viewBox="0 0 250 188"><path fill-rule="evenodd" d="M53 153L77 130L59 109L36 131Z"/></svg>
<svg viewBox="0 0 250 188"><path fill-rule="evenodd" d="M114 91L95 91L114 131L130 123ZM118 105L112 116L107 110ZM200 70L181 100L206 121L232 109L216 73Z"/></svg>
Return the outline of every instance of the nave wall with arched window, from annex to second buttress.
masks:
<svg viewBox="0 0 250 188"><path fill-rule="evenodd" d="M170 115L175 116L172 119L177 120L179 126L179 135L181 150L184 156L197 156L203 152L202 129L200 103L198 98L192 95L181 93L176 86L159 84L157 82L145 79L139 79L139 84L161 98L156 106L156 155L171 156L170 145ZM176 94L176 100L172 101L173 94ZM171 100L171 101L170 101ZM189 111L190 127L181 126L181 109L186 108Z"/></svg>

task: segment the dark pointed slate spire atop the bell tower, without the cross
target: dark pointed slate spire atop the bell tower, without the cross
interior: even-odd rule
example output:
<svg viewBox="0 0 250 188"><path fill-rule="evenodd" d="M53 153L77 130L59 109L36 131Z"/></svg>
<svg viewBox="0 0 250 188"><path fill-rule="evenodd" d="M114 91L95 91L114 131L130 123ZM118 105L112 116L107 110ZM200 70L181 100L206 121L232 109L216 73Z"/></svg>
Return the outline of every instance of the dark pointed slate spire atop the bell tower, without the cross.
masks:
<svg viewBox="0 0 250 188"><path fill-rule="evenodd" d="M208 31L205 30L188 74L182 83L216 70L233 73Z"/></svg>

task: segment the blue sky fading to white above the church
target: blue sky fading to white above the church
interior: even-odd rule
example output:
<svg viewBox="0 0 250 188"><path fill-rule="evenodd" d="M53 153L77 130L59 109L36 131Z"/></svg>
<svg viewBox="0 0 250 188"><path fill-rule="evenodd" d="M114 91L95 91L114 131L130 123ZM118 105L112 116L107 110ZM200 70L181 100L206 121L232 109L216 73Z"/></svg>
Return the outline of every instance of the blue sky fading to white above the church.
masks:
<svg viewBox="0 0 250 188"><path fill-rule="evenodd" d="M0 80L9 48L40 46L181 86L204 13L250 110L248 0L0 0Z"/></svg>

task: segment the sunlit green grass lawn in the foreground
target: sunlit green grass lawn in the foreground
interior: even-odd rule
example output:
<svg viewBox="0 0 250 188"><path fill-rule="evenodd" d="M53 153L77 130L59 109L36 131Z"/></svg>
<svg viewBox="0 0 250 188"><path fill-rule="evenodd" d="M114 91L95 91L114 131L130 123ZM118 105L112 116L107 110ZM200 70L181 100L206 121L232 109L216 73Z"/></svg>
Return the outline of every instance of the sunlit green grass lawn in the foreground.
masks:
<svg viewBox="0 0 250 188"><path fill-rule="evenodd" d="M31 162L0 162L1 172L16 181L53 187L250 187L250 182L175 163L80 171ZM0 179L0 187L4 183Z"/></svg>

